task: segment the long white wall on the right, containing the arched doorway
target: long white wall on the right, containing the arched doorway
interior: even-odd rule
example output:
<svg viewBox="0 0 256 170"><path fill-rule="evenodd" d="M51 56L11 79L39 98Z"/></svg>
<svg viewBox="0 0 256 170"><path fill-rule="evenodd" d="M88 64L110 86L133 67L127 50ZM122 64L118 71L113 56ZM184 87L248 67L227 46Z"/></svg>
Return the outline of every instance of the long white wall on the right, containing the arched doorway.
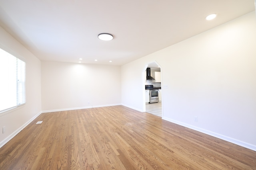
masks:
<svg viewBox="0 0 256 170"><path fill-rule="evenodd" d="M255 12L122 66L122 104L143 110L141 75L154 60L168 85L163 119L256 150Z"/></svg>

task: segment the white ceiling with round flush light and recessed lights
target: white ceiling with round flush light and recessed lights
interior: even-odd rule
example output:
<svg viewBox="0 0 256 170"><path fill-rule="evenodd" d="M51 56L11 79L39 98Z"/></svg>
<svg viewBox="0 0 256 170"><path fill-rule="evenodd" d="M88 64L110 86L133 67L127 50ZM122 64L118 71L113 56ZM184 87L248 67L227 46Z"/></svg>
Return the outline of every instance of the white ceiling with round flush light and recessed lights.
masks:
<svg viewBox="0 0 256 170"><path fill-rule="evenodd" d="M254 10L254 0L0 0L0 25L41 61L123 65Z"/></svg>

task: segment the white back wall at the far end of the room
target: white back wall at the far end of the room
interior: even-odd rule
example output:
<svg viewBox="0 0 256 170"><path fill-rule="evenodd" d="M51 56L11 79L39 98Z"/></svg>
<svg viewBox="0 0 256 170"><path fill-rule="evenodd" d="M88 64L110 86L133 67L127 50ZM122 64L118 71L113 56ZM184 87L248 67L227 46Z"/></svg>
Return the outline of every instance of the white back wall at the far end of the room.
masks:
<svg viewBox="0 0 256 170"><path fill-rule="evenodd" d="M42 111L121 104L121 67L41 62Z"/></svg>

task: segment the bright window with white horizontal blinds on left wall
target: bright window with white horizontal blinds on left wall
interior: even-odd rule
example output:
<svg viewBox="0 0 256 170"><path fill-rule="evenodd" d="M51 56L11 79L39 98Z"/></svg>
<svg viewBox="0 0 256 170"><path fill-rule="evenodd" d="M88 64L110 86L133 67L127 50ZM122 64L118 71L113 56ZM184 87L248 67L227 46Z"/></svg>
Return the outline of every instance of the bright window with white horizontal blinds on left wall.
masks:
<svg viewBox="0 0 256 170"><path fill-rule="evenodd" d="M0 113L26 103L26 63L0 49Z"/></svg>

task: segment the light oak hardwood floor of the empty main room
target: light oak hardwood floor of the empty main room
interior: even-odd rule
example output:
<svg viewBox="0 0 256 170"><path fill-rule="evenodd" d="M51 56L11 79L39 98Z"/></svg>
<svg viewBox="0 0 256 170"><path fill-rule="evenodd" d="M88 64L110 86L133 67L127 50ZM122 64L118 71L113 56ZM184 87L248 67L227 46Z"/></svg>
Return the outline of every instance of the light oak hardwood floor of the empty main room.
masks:
<svg viewBox="0 0 256 170"><path fill-rule="evenodd" d="M111 106L42 113L0 148L0 170L25 169L255 170L256 152Z"/></svg>

